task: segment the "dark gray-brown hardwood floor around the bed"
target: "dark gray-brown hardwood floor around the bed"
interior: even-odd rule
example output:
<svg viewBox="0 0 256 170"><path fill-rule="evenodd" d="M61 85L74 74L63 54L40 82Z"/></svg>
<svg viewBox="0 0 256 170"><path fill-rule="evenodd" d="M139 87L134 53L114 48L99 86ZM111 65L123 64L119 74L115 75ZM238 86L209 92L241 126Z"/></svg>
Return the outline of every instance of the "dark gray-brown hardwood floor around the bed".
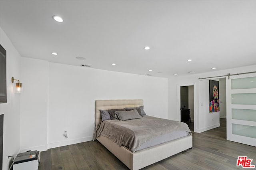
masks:
<svg viewBox="0 0 256 170"><path fill-rule="evenodd" d="M185 150L143 170L234 170L238 156L252 158L256 147L226 140L226 119L220 127L194 133L193 148ZM40 152L39 170L127 170L128 168L100 142L89 141Z"/></svg>

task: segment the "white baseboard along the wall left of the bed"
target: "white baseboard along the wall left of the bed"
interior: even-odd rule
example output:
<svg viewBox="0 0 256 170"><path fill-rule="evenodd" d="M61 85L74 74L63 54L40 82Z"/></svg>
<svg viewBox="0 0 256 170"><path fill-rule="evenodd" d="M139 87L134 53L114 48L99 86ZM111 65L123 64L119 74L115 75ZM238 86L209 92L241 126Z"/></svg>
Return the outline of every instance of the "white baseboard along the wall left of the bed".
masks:
<svg viewBox="0 0 256 170"><path fill-rule="evenodd" d="M70 140L63 140L63 141L60 141L60 142L49 143L48 144L48 149L56 148L56 147L60 147L60 146L66 146L66 145L70 145L70 144L76 144L76 143L91 141L92 137L93 136L87 136L87 137L84 137L84 138L77 138L77 139L70 139Z"/></svg>

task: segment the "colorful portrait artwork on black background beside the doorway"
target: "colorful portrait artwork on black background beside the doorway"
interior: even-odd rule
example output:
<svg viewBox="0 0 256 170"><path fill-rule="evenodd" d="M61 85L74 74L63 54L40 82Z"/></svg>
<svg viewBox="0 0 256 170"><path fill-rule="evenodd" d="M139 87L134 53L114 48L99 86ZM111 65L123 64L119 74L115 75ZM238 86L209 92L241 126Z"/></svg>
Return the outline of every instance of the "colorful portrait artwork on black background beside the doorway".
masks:
<svg viewBox="0 0 256 170"><path fill-rule="evenodd" d="M209 112L220 111L220 99L219 99L219 81L209 80L209 96L210 96L210 107Z"/></svg>

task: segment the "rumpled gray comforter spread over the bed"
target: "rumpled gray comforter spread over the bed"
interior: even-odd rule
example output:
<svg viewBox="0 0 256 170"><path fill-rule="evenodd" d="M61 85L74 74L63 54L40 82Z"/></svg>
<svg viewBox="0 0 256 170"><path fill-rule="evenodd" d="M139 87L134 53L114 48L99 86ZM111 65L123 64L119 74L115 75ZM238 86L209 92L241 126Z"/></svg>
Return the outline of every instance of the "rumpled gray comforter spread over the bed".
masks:
<svg viewBox="0 0 256 170"><path fill-rule="evenodd" d="M97 129L97 137L105 136L135 152L144 142L175 131L186 131L191 135L186 123L143 116L141 119L128 121L105 120Z"/></svg>

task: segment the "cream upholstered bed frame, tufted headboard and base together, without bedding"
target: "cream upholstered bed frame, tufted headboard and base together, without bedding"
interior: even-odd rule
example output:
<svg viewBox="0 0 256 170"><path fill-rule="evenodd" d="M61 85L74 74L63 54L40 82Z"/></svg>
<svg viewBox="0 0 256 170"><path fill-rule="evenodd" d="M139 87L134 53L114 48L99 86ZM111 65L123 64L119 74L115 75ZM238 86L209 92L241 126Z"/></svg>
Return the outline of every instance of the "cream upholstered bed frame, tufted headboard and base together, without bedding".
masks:
<svg viewBox="0 0 256 170"><path fill-rule="evenodd" d="M101 121L99 109L122 109L125 107L138 107L142 105L143 100L96 100L94 136L96 136L96 129L100 125ZM158 144L136 152L131 152L123 146L120 147L118 144L104 136L99 136L96 139L131 170L144 168L145 166L154 164L155 162L168 158L169 156L182 152L183 150L192 148L192 135L163 144Z"/></svg>

